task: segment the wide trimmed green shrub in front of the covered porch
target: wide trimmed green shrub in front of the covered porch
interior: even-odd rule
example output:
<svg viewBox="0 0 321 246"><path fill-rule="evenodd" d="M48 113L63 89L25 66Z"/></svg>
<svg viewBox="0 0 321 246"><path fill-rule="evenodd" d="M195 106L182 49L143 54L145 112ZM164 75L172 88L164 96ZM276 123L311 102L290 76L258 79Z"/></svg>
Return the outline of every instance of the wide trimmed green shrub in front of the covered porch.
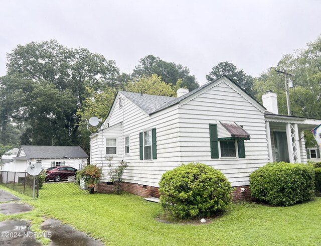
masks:
<svg viewBox="0 0 321 246"><path fill-rule="evenodd" d="M306 164L268 163L250 174L250 189L253 198L290 206L313 198L314 171Z"/></svg>

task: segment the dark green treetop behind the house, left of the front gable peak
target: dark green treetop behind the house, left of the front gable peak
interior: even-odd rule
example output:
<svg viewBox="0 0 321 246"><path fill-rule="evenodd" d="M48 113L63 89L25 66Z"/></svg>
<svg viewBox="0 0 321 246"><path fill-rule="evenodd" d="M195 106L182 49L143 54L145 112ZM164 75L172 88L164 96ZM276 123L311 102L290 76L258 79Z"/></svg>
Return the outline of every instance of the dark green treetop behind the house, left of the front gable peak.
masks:
<svg viewBox="0 0 321 246"><path fill-rule="evenodd" d="M133 69L132 76L135 79L143 76L151 76L156 74L161 76L162 80L167 84L176 85L179 79L182 79L182 86L187 87L190 91L199 87L194 75L190 75L190 70L181 64L163 61L159 57L147 55L139 60L139 65Z"/></svg>

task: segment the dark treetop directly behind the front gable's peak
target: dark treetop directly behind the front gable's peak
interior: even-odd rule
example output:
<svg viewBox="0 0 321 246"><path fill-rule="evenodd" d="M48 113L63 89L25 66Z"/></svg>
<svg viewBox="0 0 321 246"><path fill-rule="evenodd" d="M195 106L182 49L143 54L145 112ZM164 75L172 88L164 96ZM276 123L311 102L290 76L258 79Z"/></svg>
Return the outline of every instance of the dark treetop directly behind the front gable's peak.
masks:
<svg viewBox="0 0 321 246"><path fill-rule="evenodd" d="M230 62L220 62L206 75L206 79L208 82L212 82L223 75L231 78L250 95L254 95L253 77L246 75L243 69L237 69L237 67Z"/></svg>

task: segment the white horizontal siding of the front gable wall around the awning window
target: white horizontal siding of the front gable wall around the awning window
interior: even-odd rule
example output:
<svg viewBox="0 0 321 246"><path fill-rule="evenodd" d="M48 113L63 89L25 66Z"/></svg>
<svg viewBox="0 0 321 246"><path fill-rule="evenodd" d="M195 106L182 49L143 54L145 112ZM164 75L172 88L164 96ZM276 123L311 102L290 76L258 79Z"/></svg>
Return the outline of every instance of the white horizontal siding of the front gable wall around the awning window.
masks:
<svg viewBox="0 0 321 246"><path fill-rule="evenodd" d="M220 169L233 186L248 185L249 174L268 162L264 113L236 86L219 82L179 107L181 161L205 163ZM245 158L211 159L209 124L218 121L236 122L250 134Z"/></svg>

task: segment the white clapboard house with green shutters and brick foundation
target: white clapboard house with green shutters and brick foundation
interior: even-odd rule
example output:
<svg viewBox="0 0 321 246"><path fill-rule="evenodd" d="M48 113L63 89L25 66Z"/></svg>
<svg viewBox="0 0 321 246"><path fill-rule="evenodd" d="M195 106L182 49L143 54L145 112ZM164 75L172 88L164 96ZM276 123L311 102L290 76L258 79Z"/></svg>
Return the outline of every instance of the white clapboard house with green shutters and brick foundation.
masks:
<svg viewBox="0 0 321 246"><path fill-rule="evenodd" d="M107 157L129 162L124 189L157 196L163 173L181 163L221 170L249 195L249 174L272 161L305 163L302 131L321 120L277 113L269 91L262 106L227 76L178 97L119 91L108 117L91 136L91 163L103 166L98 191L108 190ZM268 109L268 110L267 110Z"/></svg>

